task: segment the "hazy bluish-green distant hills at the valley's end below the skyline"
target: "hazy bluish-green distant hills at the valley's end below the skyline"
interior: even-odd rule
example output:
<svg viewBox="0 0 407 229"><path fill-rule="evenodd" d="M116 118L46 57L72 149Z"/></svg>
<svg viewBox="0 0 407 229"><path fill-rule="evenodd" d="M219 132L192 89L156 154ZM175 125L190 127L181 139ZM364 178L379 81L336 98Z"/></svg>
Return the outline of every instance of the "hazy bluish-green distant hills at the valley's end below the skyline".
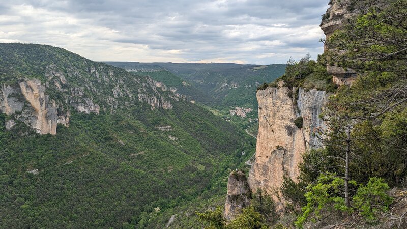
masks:
<svg viewBox="0 0 407 229"><path fill-rule="evenodd" d="M155 77L156 71L169 71L185 80L197 90L227 106L257 108L255 92L257 85L271 82L284 74L285 64L241 65L233 63L140 63L106 62L128 71L144 72ZM153 72L152 72L153 71ZM168 74L167 74L168 75ZM162 78L162 77L161 77ZM185 83L184 83L185 84ZM194 95L185 93L194 98ZM200 98L199 96L198 98ZM195 95L196 99L196 95ZM203 99L204 101L208 99ZM210 100L208 100L210 101Z"/></svg>

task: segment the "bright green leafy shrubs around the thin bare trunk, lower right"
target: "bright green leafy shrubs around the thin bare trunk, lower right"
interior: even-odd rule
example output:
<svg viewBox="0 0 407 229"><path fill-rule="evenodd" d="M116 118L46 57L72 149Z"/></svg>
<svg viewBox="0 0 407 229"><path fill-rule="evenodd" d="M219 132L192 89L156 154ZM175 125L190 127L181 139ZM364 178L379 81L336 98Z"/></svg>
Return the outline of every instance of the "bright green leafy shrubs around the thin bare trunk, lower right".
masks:
<svg viewBox="0 0 407 229"><path fill-rule="evenodd" d="M386 193L389 190L387 183L382 178L370 178L369 182L357 184L356 181L349 181L351 186L359 186L356 194L352 197L351 207L346 207L345 199L342 196L344 180L334 173L321 174L316 183L307 187L305 198L306 206L302 208L302 214L295 222L296 226L302 228L303 224L311 220L320 219L324 214L333 210L353 213L357 212L367 222L376 220L376 215L380 212L388 211L392 198Z"/></svg>

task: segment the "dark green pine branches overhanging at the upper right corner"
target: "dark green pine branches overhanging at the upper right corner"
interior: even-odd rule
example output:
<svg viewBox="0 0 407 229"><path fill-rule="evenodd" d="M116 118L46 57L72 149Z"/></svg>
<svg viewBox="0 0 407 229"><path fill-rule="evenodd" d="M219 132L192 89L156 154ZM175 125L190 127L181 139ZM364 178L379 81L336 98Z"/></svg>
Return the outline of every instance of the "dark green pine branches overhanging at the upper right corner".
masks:
<svg viewBox="0 0 407 229"><path fill-rule="evenodd" d="M348 105L357 118L373 119L407 101L407 1L363 4L365 14L326 41L327 56L330 65L360 73L359 94Z"/></svg>

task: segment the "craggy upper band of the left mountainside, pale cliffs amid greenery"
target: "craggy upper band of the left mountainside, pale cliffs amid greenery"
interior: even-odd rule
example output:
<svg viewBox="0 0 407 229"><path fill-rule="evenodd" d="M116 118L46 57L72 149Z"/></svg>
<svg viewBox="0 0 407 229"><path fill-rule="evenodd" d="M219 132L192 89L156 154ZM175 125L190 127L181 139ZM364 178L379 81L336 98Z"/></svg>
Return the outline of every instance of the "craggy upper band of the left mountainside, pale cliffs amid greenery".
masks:
<svg viewBox="0 0 407 229"><path fill-rule="evenodd" d="M17 46L17 50L9 47L13 55L0 66L0 112L8 116L7 130L23 122L37 133L56 134L57 124L69 125L71 110L99 114L137 104L142 107L142 103L148 103L151 109L172 109L172 101L185 100L185 96L167 91L165 85L150 77L135 76L66 50L53 48L70 58L53 59L55 63L41 67L37 64L45 61L39 50L47 46L35 45L38 53L33 52L38 56L33 54L30 59L18 49L24 45L5 44L0 51L7 46ZM19 63L21 60L27 63Z"/></svg>

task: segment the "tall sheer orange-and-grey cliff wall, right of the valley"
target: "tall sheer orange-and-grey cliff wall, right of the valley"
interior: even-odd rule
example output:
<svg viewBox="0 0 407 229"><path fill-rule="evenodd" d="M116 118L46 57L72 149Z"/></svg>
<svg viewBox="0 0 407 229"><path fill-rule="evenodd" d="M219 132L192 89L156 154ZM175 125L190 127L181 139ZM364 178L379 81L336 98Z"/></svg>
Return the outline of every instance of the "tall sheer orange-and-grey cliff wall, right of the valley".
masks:
<svg viewBox="0 0 407 229"><path fill-rule="evenodd" d="M259 130L248 182L252 191L264 188L273 193L284 176L296 181L301 155L321 145L312 133L315 128L326 128L319 113L327 94L315 89L269 87L257 92L257 100ZM303 120L300 128L295 124L299 117Z"/></svg>

